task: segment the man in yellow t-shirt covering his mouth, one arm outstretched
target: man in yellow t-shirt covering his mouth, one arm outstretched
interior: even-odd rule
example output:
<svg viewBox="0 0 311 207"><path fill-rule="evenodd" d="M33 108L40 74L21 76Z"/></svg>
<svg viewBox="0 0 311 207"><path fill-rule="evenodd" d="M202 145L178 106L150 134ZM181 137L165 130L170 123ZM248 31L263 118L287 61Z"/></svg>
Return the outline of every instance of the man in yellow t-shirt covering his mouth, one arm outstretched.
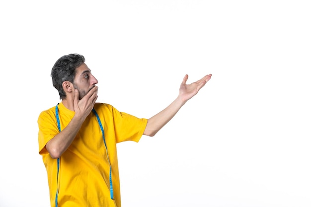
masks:
<svg viewBox="0 0 311 207"><path fill-rule="evenodd" d="M96 103L98 81L84 62L69 54L55 63L51 76L62 101L38 118L51 207L121 207L116 143L155 136L212 75L191 84L185 75L177 98L143 119Z"/></svg>

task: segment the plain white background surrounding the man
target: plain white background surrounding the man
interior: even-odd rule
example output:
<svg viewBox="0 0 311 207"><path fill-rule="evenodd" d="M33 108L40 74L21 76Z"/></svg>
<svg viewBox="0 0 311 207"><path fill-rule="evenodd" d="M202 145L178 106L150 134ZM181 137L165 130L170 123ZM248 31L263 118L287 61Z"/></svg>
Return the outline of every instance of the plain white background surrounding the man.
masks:
<svg viewBox="0 0 311 207"><path fill-rule="evenodd" d="M99 102L141 118L213 74L155 137L118 145L123 207L310 207L309 2L1 1L0 207L50 205L37 118L70 53Z"/></svg>

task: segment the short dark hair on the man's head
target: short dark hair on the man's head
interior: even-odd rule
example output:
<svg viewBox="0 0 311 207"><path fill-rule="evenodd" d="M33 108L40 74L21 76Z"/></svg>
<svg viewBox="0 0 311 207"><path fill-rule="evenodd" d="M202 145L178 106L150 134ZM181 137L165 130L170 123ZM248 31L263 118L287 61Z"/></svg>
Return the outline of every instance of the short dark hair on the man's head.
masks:
<svg viewBox="0 0 311 207"><path fill-rule="evenodd" d="M78 68L84 62L84 57L75 53L61 57L54 64L51 77L53 86L60 94L60 99L66 99L66 93L63 89L63 82L70 81L74 83L76 68Z"/></svg>

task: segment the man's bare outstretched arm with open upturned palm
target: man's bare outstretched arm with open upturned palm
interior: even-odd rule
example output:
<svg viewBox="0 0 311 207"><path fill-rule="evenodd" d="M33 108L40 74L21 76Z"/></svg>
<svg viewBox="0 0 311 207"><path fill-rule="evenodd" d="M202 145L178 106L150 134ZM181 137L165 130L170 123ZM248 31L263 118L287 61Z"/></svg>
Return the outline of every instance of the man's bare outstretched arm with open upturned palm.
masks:
<svg viewBox="0 0 311 207"><path fill-rule="evenodd" d="M165 109L157 113L155 116L148 119L148 123L144 132L144 135L153 137L156 133L164 127L179 111L179 109L193 96L195 96L199 90L209 81L212 74L205 75L200 80L191 84L186 84L188 75L186 74L180 84L179 94L177 98L169 104Z"/></svg>

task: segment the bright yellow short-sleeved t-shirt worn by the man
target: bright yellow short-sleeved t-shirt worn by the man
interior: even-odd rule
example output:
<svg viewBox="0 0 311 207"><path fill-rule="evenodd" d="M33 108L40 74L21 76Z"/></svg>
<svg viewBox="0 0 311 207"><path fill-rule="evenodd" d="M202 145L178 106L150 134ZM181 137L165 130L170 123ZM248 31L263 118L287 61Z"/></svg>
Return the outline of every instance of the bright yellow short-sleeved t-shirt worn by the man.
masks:
<svg viewBox="0 0 311 207"><path fill-rule="evenodd" d="M61 130L75 115L62 103L58 105ZM57 159L51 158L46 143L59 133L55 107L41 112L38 118L39 153L48 174L51 207L55 207L57 189L59 207L121 207L120 180L116 143L138 142L147 125L147 119L119 112L109 104L94 106L104 130L112 171L114 200L110 198L110 165L107 150L97 118L91 112L78 135L60 157L57 181Z"/></svg>

